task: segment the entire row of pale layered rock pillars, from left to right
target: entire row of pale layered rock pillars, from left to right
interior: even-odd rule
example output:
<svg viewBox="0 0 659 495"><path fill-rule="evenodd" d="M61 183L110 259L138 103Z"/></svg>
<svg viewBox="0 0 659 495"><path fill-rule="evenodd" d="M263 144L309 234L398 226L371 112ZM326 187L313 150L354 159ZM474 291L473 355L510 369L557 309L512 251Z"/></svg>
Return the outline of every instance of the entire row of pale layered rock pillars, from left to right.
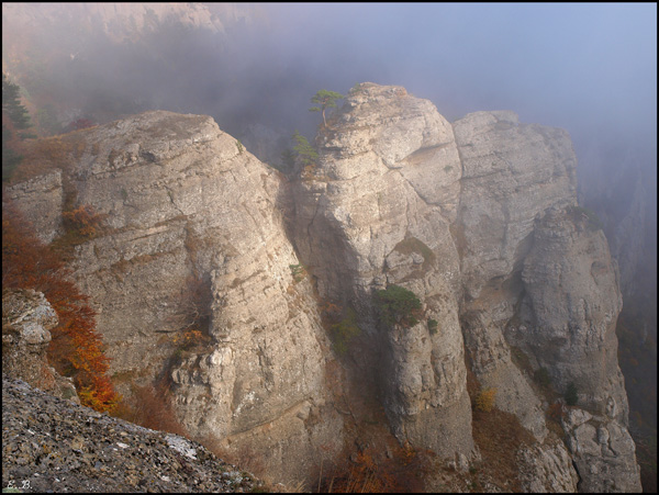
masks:
<svg viewBox="0 0 659 495"><path fill-rule="evenodd" d="M48 180L110 228L76 248L76 279L113 371L169 376L189 430L258 447L289 480L338 452L335 355L319 313L333 303L356 314L367 342L356 368L401 442L461 465L478 458L469 367L536 439L520 453L528 490L573 490L570 460L581 490L640 488L616 267L574 207L563 131L512 112L451 125L403 88L364 83L319 133L319 164L288 184L209 117L148 112L81 135L67 179ZM66 194L33 182L13 201L27 216L40 201L59 212ZM47 225L53 238L60 227ZM415 324L382 323L373 294L392 284L420 299ZM202 295L192 323L191 292ZM192 327L204 335L190 344ZM547 428L540 369L560 394L573 382L588 409L563 419L567 445Z"/></svg>

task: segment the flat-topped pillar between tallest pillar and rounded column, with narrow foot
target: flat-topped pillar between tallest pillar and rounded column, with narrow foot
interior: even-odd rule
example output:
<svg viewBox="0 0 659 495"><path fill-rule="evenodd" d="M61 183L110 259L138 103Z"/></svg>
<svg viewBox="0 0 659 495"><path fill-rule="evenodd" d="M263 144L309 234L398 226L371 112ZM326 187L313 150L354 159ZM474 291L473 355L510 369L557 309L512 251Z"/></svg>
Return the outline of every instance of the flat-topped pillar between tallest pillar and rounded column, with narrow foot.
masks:
<svg viewBox="0 0 659 495"><path fill-rule="evenodd" d="M513 363L503 330L523 292L520 270L535 218L577 201L577 159L565 131L520 124L513 112L471 113L454 130L463 167L456 230L467 347L481 384L498 390L498 407L541 440L540 401Z"/></svg>

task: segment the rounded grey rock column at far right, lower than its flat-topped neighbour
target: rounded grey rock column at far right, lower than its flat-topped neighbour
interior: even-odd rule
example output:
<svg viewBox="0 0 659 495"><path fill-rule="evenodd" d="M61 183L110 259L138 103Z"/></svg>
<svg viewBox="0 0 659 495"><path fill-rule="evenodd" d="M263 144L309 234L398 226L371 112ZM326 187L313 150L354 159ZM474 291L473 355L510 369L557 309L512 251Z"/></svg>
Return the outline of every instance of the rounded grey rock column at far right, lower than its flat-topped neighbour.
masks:
<svg viewBox="0 0 659 495"><path fill-rule="evenodd" d="M549 211L534 232L522 279L522 324L509 327L511 341L549 371L558 390L573 382L580 404L626 424L615 337L622 296L602 230L578 210Z"/></svg>

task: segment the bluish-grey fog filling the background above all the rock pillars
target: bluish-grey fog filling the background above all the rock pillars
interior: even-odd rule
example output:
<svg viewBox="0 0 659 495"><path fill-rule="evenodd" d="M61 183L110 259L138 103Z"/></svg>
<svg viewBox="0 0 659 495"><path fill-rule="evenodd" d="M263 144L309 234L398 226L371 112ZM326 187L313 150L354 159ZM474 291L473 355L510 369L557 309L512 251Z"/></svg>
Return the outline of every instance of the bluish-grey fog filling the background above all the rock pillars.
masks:
<svg viewBox="0 0 659 495"><path fill-rule="evenodd" d="M171 4L139 7L159 18L129 4L12 5L2 8L3 70L60 122L210 114L277 165L295 130L315 134L317 90L399 85L449 121L513 110L567 130L581 201L612 224L641 198L641 234L656 232L656 3L175 4L211 12L223 30L182 25L166 15ZM155 20L139 27L133 14Z"/></svg>

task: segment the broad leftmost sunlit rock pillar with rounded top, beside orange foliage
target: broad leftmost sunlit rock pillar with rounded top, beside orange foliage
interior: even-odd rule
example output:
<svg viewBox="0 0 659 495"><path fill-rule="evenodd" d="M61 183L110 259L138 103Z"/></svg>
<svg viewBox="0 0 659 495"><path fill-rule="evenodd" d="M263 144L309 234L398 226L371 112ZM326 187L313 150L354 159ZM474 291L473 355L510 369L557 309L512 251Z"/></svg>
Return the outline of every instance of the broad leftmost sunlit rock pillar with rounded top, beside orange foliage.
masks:
<svg viewBox="0 0 659 495"><path fill-rule="evenodd" d="M108 228L71 266L112 373L139 384L166 373L192 435L263 449L281 479L310 472L319 445L340 448L342 423L326 405L311 286L291 273L278 172L208 116L147 112L76 136L70 185ZM206 318L186 314L191 297Z"/></svg>

